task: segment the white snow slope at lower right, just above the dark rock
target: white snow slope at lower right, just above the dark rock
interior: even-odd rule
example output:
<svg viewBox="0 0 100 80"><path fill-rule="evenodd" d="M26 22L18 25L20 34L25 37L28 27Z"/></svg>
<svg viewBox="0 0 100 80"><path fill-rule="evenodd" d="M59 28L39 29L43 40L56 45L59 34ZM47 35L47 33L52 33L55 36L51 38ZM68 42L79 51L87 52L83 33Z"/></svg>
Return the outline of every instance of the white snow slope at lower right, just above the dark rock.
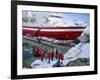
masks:
<svg viewBox="0 0 100 80"><path fill-rule="evenodd" d="M65 55L63 64L66 65L70 61L74 61L78 58L89 58L90 46L89 43L79 43L75 47L72 47Z"/></svg>

